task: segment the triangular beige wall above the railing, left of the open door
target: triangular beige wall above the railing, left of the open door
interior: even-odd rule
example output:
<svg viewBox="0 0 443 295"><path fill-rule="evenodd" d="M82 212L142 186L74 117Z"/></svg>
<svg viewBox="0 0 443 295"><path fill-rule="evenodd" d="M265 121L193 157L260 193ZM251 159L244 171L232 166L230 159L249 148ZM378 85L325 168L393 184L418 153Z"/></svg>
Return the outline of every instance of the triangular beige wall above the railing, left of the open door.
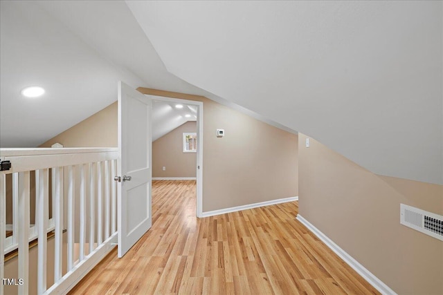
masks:
<svg viewBox="0 0 443 295"><path fill-rule="evenodd" d="M117 124L117 102L114 102L39 147L51 147L55 142L64 147L116 147Z"/></svg>

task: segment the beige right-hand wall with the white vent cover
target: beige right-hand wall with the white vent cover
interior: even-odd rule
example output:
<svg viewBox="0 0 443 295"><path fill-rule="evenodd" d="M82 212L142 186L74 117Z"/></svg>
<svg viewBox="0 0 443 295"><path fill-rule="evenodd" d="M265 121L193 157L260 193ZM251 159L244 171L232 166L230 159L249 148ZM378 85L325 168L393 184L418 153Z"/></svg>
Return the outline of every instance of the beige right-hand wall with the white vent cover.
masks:
<svg viewBox="0 0 443 295"><path fill-rule="evenodd" d="M400 225L400 203L443 215L443 186L370 173L299 134L299 214L398 294L443 294L443 242Z"/></svg>

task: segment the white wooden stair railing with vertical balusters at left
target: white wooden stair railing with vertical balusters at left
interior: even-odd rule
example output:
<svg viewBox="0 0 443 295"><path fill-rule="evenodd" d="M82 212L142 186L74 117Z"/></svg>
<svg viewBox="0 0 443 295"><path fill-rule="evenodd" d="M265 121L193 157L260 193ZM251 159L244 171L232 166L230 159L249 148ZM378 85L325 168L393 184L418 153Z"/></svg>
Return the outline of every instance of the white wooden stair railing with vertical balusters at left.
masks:
<svg viewBox="0 0 443 295"><path fill-rule="evenodd" d="M115 247L116 183L112 178L117 158L115 148L0 149L0 161L6 163L0 171L1 295L7 294L7 288L17 288L16 294L69 292ZM6 206L8 194L12 208ZM35 222L31 224L30 198L34 196ZM6 224L7 210L12 225ZM8 237L7 228L12 230ZM48 233L53 233L53 253L48 253ZM37 274L31 274L29 243L35 239ZM5 272L5 255L17 250L18 276L12 278ZM46 277L48 273L53 278ZM37 276L36 285L30 284L35 281L30 276Z"/></svg>

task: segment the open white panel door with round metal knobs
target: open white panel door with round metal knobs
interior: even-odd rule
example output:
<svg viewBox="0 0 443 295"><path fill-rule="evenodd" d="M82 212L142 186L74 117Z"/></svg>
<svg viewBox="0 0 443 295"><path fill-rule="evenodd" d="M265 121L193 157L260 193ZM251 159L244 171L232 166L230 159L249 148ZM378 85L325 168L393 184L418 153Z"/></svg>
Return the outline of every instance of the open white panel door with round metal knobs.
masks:
<svg viewBox="0 0 443 295"><path fill-rule="evenodd" d="M152 100L118 82L118 257L152 225Z"/></svg>

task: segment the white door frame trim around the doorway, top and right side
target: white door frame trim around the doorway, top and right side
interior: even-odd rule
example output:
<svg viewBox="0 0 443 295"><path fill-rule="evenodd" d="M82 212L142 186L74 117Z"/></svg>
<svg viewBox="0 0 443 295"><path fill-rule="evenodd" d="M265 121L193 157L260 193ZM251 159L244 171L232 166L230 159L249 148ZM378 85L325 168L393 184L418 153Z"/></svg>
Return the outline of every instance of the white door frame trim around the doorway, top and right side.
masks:
<svg viewBox="0 0 443 295"><path fill-rule="evenodd" d="M203 102L195 100L171 98L145 94L154 102L172 102L174 104L189 104L197 106L197 208L198 218L203 217Z"/></svg>

